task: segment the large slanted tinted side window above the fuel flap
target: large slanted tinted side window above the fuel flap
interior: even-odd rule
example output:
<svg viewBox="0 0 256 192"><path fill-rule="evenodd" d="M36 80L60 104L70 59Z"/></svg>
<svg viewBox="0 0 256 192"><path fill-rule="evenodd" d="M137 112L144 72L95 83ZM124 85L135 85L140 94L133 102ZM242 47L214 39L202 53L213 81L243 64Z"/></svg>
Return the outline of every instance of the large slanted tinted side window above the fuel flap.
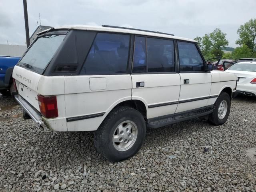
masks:
<svg viewBox="0 0 256 192"><path fill-rule="evenodd" d="M98 33L81 74L126 73L129 44L129 35Z"/></svg>

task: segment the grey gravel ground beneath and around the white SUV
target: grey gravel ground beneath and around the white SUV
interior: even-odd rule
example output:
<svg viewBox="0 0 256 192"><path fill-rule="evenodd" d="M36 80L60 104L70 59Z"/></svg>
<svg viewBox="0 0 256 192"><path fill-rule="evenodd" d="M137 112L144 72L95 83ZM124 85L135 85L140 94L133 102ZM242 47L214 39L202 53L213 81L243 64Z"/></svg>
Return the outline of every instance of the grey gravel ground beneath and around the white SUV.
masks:
<svg viewBox="0 0 256 192"><path fill-rule="evenodd" d="M37 128L10 97L0 107L0 191L256 191L255 98L234 99L222 126L148 129L138 154L118 163L96 152L93 132Z"/></svg>

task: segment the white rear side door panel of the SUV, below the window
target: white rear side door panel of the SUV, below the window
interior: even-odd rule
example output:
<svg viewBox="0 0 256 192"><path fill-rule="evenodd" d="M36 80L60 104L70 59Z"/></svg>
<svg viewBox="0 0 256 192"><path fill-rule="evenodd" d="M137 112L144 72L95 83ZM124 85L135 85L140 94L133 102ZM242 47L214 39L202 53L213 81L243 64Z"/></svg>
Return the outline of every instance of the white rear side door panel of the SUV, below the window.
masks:
<svg viewBox="0 0 256 192"><path fill-rule="evenodd" d="M144 87L136 88L136 82L144 82ZM173 114L178 104L155 108L148 108L148 106L178 102L179 94L179 74L132 74L132 99L144 102L147 118Z"/></svg>

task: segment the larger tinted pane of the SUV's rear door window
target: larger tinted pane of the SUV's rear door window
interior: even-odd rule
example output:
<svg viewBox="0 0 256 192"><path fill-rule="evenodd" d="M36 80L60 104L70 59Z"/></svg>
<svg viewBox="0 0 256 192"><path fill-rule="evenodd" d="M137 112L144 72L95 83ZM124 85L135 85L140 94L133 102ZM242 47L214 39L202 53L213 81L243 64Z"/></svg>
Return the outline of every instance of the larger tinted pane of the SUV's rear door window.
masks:
<svg viewBox="0 0 256 192"><path fill-rule="evenodd" d="M174 42L146 38L148 72L174 72Z"/></svg>

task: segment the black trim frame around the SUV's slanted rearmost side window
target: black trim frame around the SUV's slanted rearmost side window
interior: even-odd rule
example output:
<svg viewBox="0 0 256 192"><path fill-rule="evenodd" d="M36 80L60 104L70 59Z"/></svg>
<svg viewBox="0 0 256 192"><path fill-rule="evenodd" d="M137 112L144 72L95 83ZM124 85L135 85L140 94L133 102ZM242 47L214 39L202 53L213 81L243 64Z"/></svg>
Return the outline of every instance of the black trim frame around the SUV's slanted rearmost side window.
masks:
<svg viewBox="0 0 256 192"><path fill-rule="evenodd" d="M125 72L125 73L110 73L110 74L81 74L82 68L84 67L84 64L85 64L85 62L86 62L86 59L87 59L87 57L88 57L88 55L89 55L89 53L90 53L90 50L91 50L91 48L92 48L92 46L93 46L93 43L94 43L94 40L93 40L93 41L92 41L92 44L91 44L91 46L90 46L90 49L89 49L89 51L88 51L88 53L87 53L87 55L86 55L86 57L85 57L85 59L84 59L84 63L82 64L82 67L81 67L80 71L78 72L78 75L79 75L79 76L96 76L96 75L127 75L127 74L131 74L131 72L130 72L130 70L131 70L131 68L130 68L130 65L131 65L131 63L130 63L130 62L131 62L131 61L130 61L130 56L132 55L132 57L133 57L133 54L131 54L131 51L132 51L131 48L132 48L133 45L134 45L134 42L132 42L132 40L133 40L133 37L132 37L132 36L134 36L134 35L133 35L133 34L130 34L130 33L120 33L120 32L111 32L111 31L95 31L95 32L96 32L96 34L95 34L94 40L96 39L98 33L128 35L128 36L130 37L130 39L129 39L128 59L127 59L127 64L126 64L126 72Z"/></svg>

